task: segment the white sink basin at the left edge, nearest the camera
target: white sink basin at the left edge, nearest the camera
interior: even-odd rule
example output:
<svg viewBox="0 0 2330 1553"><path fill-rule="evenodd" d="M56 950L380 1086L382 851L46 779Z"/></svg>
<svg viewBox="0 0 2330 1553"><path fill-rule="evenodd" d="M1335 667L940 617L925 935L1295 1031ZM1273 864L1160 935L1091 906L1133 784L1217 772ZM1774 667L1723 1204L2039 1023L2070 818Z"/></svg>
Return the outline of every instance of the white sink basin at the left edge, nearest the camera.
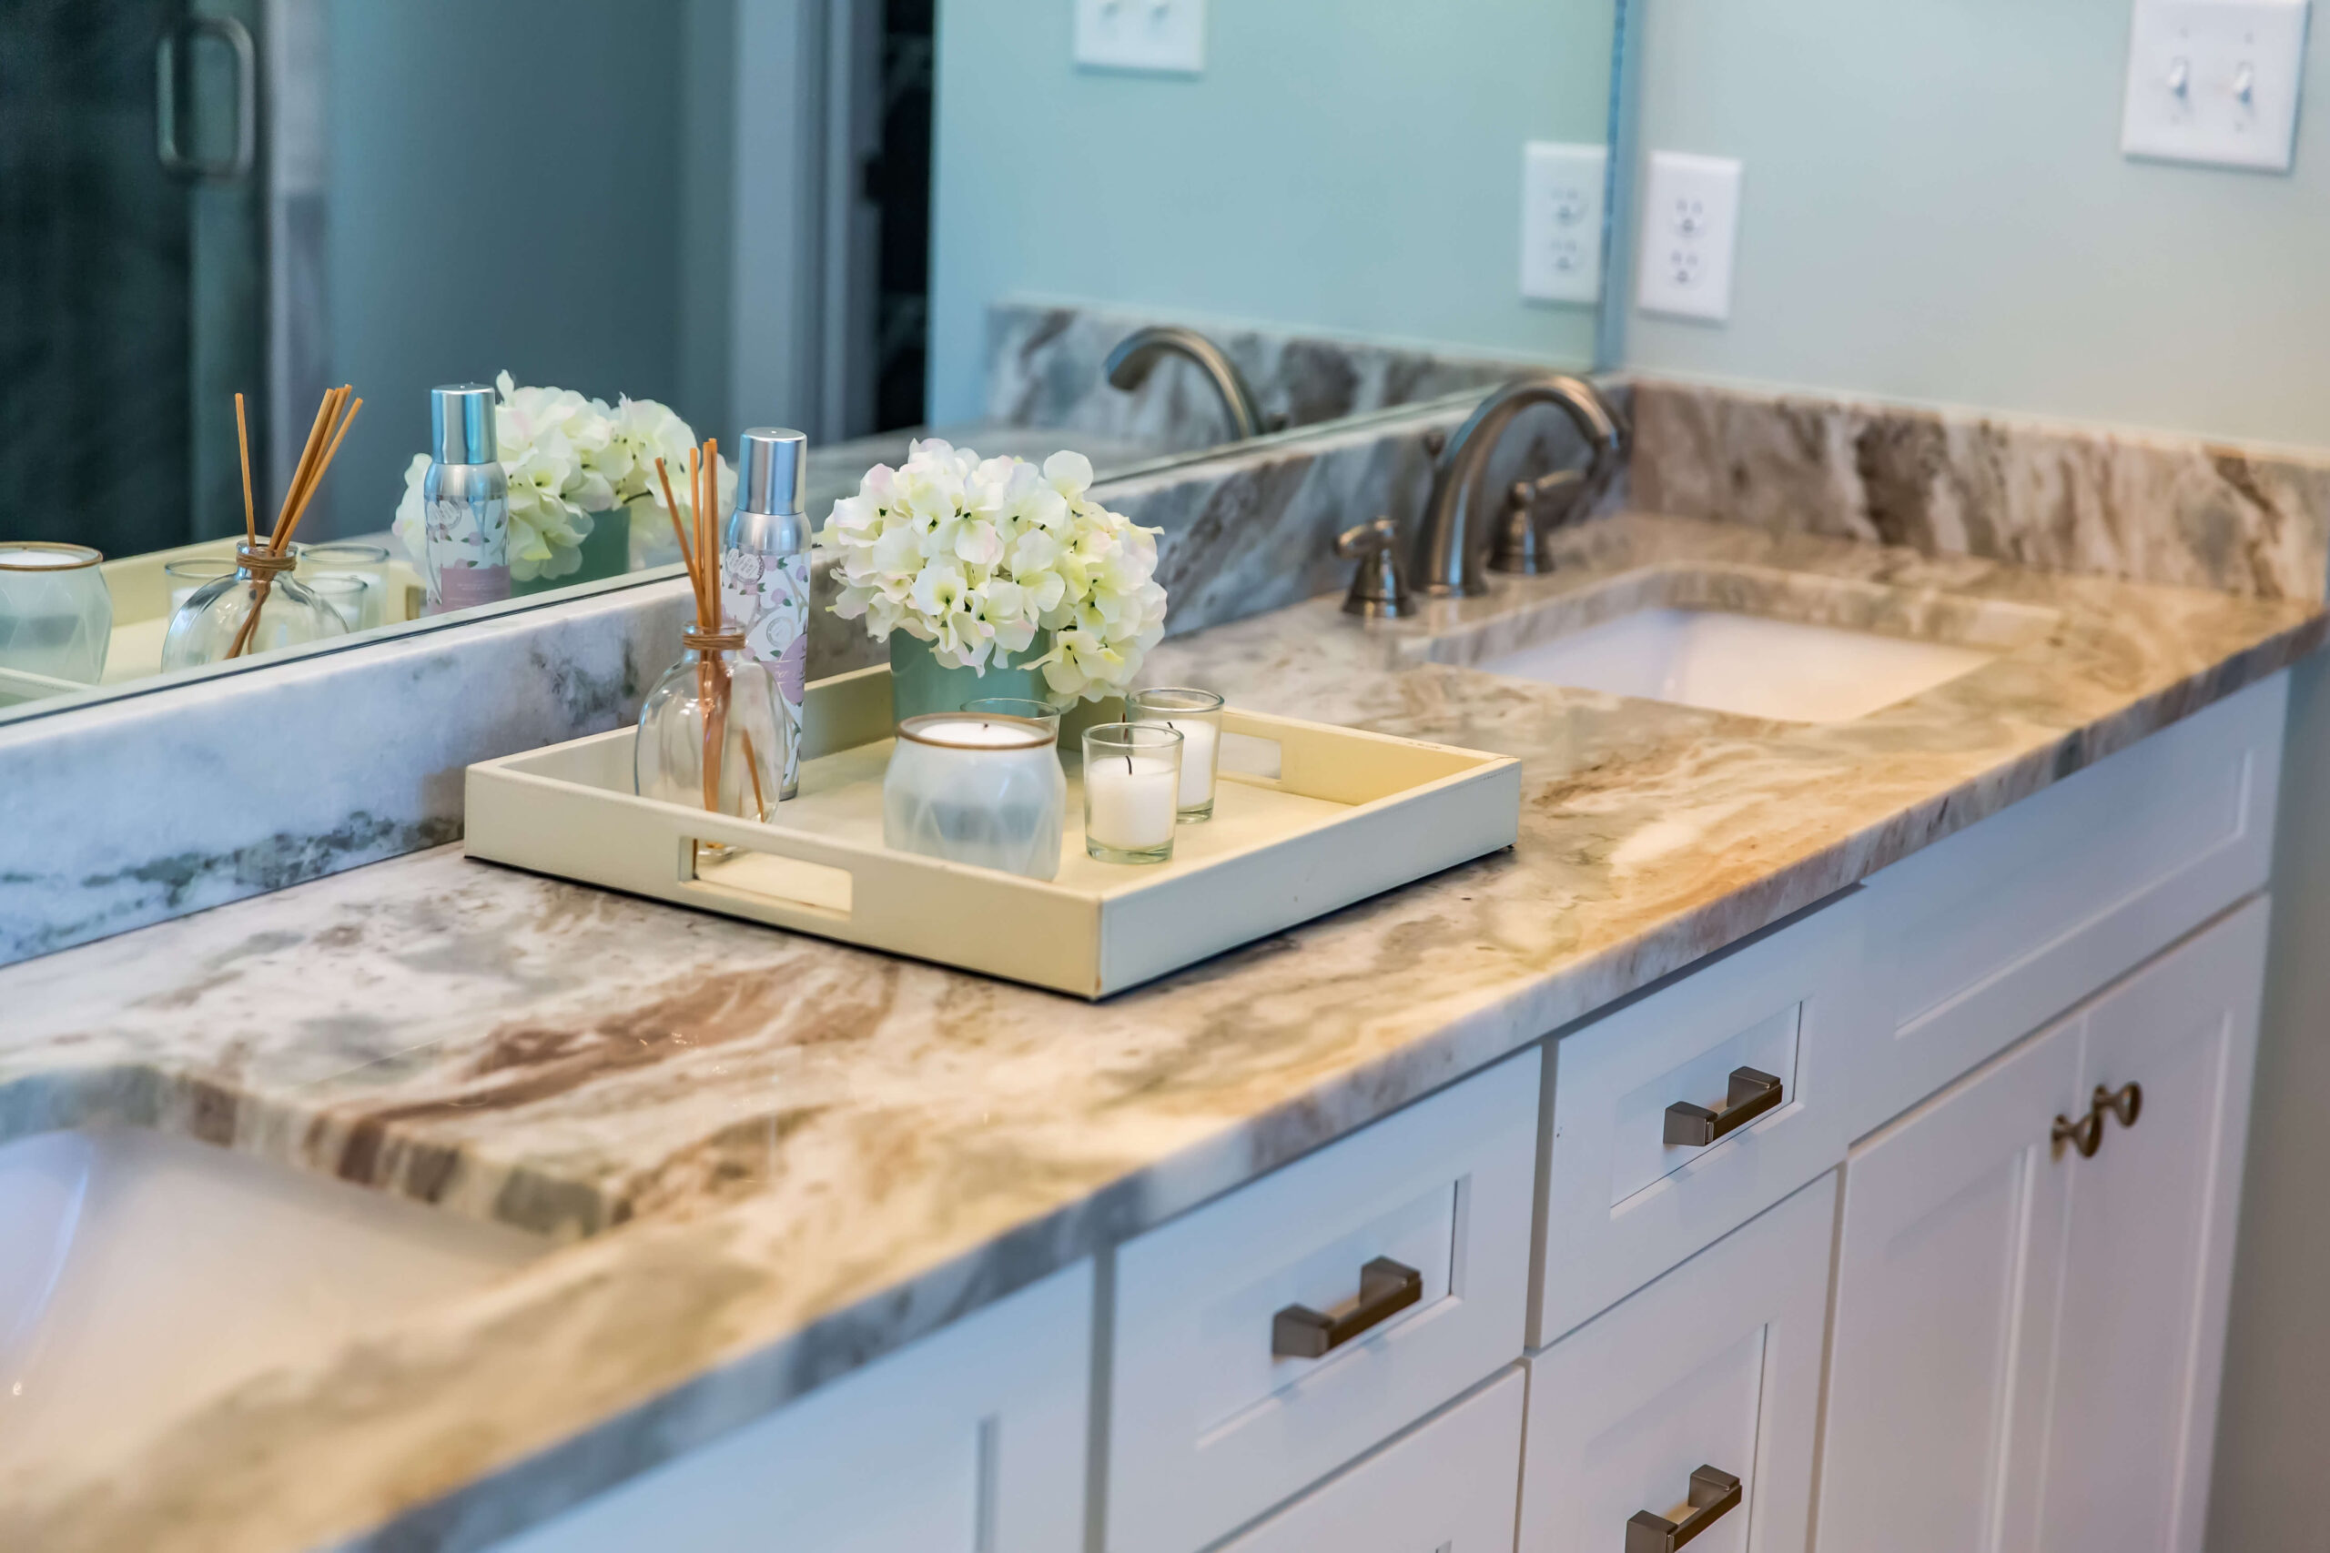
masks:
<svg viewBox="0 0 2330 1553"><path fill-rule="evenodd" d="M475 1290L548 1241L137 1127L0 1146L0 1469Z"/></svg>

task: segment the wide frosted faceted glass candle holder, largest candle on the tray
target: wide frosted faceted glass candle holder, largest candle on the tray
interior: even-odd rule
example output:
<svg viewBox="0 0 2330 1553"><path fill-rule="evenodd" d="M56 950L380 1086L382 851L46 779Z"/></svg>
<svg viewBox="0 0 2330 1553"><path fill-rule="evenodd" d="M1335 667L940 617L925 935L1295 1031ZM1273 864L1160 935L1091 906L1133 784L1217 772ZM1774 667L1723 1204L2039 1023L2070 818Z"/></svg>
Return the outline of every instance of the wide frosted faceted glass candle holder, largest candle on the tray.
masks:
<svg viewBox="0 0 2330 1553"><path fill-rule="evenodd" d="M909 717L883 773L883 845L1037 880L1058 875L1067 813L1058 740L1055 726L1032 717Z"/></svg>

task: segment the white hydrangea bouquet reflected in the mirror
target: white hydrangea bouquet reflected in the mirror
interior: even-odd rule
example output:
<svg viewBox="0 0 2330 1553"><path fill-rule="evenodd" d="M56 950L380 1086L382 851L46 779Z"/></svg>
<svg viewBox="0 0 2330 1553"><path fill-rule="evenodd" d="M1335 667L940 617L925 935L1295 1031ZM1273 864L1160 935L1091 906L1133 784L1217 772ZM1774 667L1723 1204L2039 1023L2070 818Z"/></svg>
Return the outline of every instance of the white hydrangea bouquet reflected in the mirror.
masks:
<svg viewBox="0 0 2330 1553"><path fill-rule="evenodd" d="M664 494L655 482L655 461L671 468L687 463L697 433L687 421L652 398L622 398L613 410L601 398L582 398L573 389L520 389L503 373L494 380L501 403L494 405L494 440L501 473L510 477L510 577L566 577L582 566L582 540L589 538L594 512L610 512L645 501L657 510ZM405 552L426 566L422 517L422 475L429 454L412 454L405 466L405 498L396 505L396 538ZM720 461L720 510L734 503L736 470ZM687 503L680 503L687 512ZM720 522L720 515L713 515ZM669 529L657 519L655 533Z"/></svg>

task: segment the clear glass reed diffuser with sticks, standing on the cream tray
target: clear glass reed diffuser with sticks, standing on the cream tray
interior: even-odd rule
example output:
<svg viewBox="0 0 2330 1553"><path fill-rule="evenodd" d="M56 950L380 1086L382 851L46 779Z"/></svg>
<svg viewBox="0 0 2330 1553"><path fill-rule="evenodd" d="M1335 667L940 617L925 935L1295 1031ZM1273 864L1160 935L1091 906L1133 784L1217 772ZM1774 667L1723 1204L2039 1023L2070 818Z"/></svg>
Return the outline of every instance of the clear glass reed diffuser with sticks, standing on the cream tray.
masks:
<svg viewBox="0 0 2330 1553"><path fill-rule="evenodd" d="M718 442L706 442L701 454L690 449L687 477L697 515L690 533L671 501L671 475L662 459L655 461L664 510L671 512L687 580L694 584L697 624L680 636L680 661L664 671L638 710L631 780L643 799L769 820L785 792L788 726L776 673L753 657L743 631L720 615L718 470ZM697 845L725 852L711 843Z"/></svg>

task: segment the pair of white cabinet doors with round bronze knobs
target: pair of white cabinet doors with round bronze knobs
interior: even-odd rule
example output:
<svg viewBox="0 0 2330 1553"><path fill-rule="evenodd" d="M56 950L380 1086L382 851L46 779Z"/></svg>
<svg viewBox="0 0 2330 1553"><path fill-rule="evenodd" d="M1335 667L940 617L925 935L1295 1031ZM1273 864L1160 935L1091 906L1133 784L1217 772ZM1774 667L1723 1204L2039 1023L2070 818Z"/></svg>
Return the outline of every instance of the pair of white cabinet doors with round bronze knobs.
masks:
<svg viewBox="0 0 2330 1553"><path fill-rule="evenodd" d="M1852 1150L1820 1548L2200 1548L2265 917Z"/></svg>

